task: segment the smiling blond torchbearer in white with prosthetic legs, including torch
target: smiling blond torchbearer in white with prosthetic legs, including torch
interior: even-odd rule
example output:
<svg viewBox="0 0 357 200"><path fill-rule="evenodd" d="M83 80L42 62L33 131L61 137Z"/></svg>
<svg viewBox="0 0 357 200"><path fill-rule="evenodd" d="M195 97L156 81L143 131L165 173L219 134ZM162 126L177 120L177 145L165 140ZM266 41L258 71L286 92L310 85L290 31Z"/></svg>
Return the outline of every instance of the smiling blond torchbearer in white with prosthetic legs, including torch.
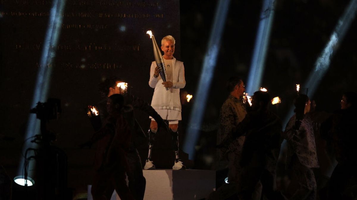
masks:
<svg viewBox="0 0 357 200"><path fill-rule="evenodd" d="M151 63L149 85L155 88L152 96L151 106L160 114L162 119L169 121L170 133L172 135L172 143L175 152L175 163L172 169L185 169L185 165L178 157L178 121L181 120L181 102L180 89L186 85L185 68L183 62L176 60L173 54L175 52L175 38L171 35L165 36L161 40L161 50L164 52L162 56L159 47L155 41L151 31L147 32L152 39L154 47L155 61ZM165 65L166 64L166 65ZM159 76L160 74L160 76ZM152 118L152 117L150 117ZM152 119L149 138L149 153L146 159L144 169L155 169L152 163L151 150L154 142L154 137L157 132L157 122Z"/></svg>

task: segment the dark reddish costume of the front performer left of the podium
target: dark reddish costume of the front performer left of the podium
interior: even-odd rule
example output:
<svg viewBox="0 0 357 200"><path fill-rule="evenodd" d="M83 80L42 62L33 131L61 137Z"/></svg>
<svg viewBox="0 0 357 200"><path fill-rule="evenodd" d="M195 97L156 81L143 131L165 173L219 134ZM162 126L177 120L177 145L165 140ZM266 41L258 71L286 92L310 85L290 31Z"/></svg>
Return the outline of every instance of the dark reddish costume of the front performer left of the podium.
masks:
<svg viewBox="0 0 357 200"><path fill-rule="evenodd" d="M132 107L126 107L126 112L130 112L130 109ZM131 170L126 160L131 146L131 132L122 113L109 115L104 127L90 140L91 143L96 141L99 144L94 162L93 199L110 199L113 188L121 199L134 199L125 180L125 173Z"/></svg>

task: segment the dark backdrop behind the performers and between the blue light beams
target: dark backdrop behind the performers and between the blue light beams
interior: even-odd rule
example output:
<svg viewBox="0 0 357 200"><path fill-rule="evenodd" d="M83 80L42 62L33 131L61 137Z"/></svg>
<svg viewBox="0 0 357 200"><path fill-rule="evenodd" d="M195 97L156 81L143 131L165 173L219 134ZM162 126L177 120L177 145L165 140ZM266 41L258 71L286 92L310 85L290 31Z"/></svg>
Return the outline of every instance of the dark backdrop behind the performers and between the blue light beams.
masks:
<svg viewBox="0 0 357 200"><path fill-rule="evenodd" d="M21 2L30 3L22 5ZM12 178L17 175L19 167L37 70L43 67L36 63L39 63L41 57L41 44L46 33L48 17L15 17L6 12L49 11L50 0L36 2L44 2L44 5L36 5L32 1L25 0L0 0L0 133L15 138L12 142L0 141L0 164ZM186 133L186 128L195 101L197 83L217 5L217 2L212 0L120 1L146 3L146 6L141 7L79 5L79 2L96 1L67 0L64 12L80 10L91 13L116 13L119 9L123 13L150 13L151 17L140 20L128 18L118 20L115 17L99 19L93 16L63 18L63 24L103 25L85 29L62 27L58 43L71 46L71 49L67 47L58 49L54 61L56 65L51 66L53 71L49 97L61 99L62 115L59 120L50 122L49 129L57 133L57 141L54 144L63 149L68 156L68 185L74 189L74 194L85 191L86 185L91 182L91 164L95 148L79 149L77 146L88 140L94 132L85 114L85 107L101 100L97 85L102 78L118 75L133 86L133 94L148 102L151 101L153 89L147 83L150 62L154 57L151 40L146 35L147 30L153 31L157 42L165 35L172 35L176 39L174 56L182 60L185 65L186 86L181 93L187 92L193 95L193 99L188 104L182 105L182 121L179 128L181 147L183 138L190 137L190 133ZM280 96L282 99L281 104L272 106L271 109L283 120L292 106L295 84L305 83L348 2L344 0L276 1L261 86L267 88L272 97ZM232 75L246 79L249 73L261 5L261 0L231 1L215 75L208 91L200 139L196 147L196 159L192 166L194 169L211 169L219 110L227 97L227 92L223 89L225 81ZM152 17L154 14L163 14L163 17ZM124 31L121 29L122 25L126 27ZM322 78L316 93L309 94L310 98L316 100L317 110L333 112L339 109L344 91L356 91L356 33L357 20L354 20L345 38L334 49L336 53L332 57L330 68ZM89 44L93 48L94 43L107 44L113 48L110 51L84 50ZM40 44L39 49L36 44ZM19 45L22 47L19 48ZM26 47L27 45L29 48ZM110 63L112 68L96 69L99 63ZM114 64L120 67L114 68ZM81 68L82 65L85 67ZM143 130L147 130L150 124L148 116L140 111L136 112L136 116ZM162 138L164 139L161 141L167 139L164 135ZM145 140L140 138L138 140L139 146L145 149Z"/></svg>

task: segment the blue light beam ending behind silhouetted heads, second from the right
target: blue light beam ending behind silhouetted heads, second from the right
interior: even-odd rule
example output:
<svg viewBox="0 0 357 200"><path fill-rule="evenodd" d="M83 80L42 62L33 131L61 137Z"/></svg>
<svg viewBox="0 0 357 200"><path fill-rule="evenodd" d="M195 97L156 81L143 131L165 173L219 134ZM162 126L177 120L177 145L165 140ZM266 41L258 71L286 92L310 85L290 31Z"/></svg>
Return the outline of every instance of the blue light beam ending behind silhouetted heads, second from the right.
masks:
<svg viewBox="0 0 357 200"><path fill-rule="evenodd" d="M274 19L275 0L264 0L247 81L247 93L253 94L261 85L265 58Z"/></svg>

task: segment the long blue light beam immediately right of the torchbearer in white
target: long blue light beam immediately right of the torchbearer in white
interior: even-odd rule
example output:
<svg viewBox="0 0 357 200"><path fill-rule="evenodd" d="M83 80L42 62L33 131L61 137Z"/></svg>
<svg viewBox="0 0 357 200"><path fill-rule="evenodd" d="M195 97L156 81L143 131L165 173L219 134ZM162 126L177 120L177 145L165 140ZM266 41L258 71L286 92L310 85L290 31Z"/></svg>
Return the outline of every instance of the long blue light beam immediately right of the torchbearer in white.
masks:
<svg viewBox="0 0 357 200"><path fill-rule="evenodd" d="M203 112L205 111L208 90L211 86L213 72L216 67L217 55L220 49L221 36L224 30L229 4L229 0L218 1L215 20L211 28L211 35L203 61L201 77L198 83L197 93L195 94L196 100L193 104L190 121L188 122L186 131L190 137L186 137L183 145L183 151L188 153L190 159L193 159L195 156L195 145L199 137L198 131L201 126Z"/></svg>

